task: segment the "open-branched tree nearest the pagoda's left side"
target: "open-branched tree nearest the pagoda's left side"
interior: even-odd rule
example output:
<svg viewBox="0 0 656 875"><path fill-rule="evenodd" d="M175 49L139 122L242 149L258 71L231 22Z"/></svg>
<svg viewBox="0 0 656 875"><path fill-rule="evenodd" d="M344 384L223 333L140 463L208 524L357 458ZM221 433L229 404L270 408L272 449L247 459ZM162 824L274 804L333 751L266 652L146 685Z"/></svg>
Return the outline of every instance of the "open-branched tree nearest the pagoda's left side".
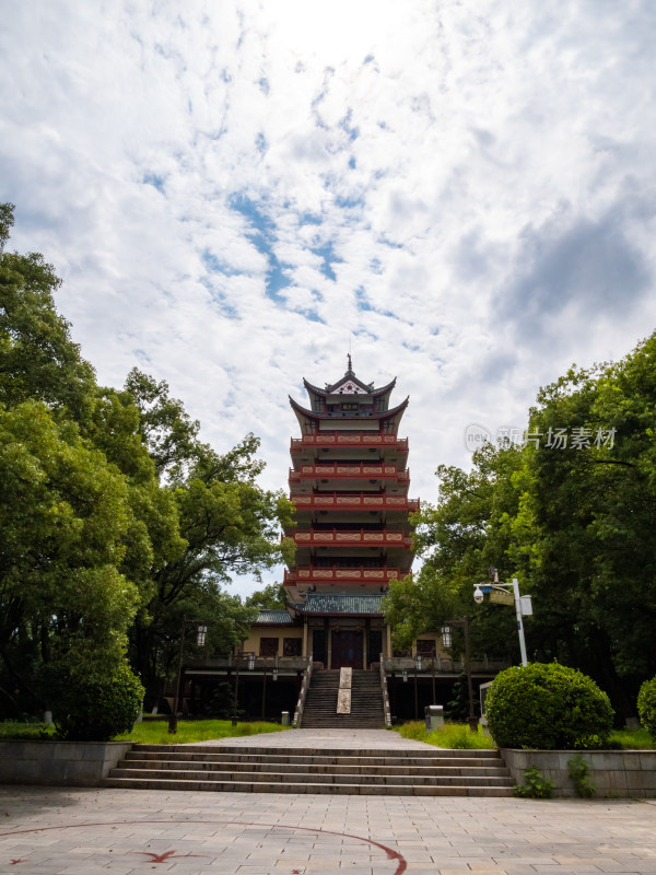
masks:
<svg viewBox="0 0 656 875"><path fill-rule="evenodd" d="M162 490L176 508L184 549L150 569L153 588L131 631L131 658L145 682L150 703L171 675L181 617L208 621L208 646L226 653L239 644L257 617L253 606L223 587L233 574L271 568L289 558L293 541L280 541L292 505L282 492L258 483L263 463L253 434L225 454L198 439L198 423L165 382L137 370L121 400L139 411L141 441L153 459Z"/></svg>

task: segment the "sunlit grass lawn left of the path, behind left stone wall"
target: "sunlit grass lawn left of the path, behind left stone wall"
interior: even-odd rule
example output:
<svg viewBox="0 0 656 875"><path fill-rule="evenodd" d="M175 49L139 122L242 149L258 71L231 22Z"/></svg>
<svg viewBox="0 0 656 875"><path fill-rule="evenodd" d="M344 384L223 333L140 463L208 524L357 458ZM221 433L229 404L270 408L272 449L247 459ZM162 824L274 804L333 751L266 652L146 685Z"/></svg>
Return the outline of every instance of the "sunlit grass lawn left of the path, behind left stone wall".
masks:
<svg viewBox="0 0 656 875"><path fill-rule="evenodd" d="M168 723L163 720L136 723L132 732L116 735L115 742L138 742L144 745L184 745L192 742L209 742L212 738L233 738L241 735L259 735L269 732L283 732L289 726L279 723L237 723L230 720L179 720L175 735L168 734ZM54 726L43 723L0 723L0 738L52 737Z"/></svg>

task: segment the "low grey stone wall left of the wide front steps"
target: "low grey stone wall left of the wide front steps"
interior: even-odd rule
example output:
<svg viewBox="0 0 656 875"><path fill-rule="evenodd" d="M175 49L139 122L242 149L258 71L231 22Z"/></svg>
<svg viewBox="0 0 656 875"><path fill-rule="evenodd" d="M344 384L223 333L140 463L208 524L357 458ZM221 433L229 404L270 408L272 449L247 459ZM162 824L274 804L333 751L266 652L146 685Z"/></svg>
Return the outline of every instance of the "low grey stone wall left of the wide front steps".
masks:
<svg viewBox="0 0 656 875"><path fill-rule="evenodd" d="M0 783L98 786L132 742L0 740Z"/></svg>

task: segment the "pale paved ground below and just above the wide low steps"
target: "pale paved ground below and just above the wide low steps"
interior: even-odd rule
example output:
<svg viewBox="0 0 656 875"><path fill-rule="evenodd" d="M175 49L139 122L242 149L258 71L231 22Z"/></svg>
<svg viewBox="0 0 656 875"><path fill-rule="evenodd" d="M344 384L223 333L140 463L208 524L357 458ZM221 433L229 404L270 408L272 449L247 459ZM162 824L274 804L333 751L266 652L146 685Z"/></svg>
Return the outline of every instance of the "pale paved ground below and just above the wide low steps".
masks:
<svg viewBox="0 0 656 875"><path fill-rule="evenodd" d="M423 747L375 731L356 743L311 731L266 738L305 747L313 735L323 747ZM107 872L656 875L656 801L0 788L0 873Z"/></svg>

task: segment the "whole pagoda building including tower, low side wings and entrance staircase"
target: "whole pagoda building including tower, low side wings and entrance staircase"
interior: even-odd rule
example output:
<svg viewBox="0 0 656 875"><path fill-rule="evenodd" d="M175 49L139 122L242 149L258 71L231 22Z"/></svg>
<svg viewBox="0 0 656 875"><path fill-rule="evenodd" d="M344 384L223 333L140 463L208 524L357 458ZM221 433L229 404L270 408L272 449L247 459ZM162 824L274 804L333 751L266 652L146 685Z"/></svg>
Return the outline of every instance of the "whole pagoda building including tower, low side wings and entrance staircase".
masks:
<svg viewBox="0 0 656 875"><path fill-rule="evenodd" d="M351 355L336 382L304 385L306 404L290 398L300 433L290 446L296 525L283 536L296 555L284 571L286 606L262 610L238 653L186 666L189 708L220 678L237 686L249 718L285 710L300 725L338 727L423 715L425 704L449 701L464 666L442 635L395 651L383 614L389 582L411 572L410 514L420 508L410 497L408 439L399 436L409 399L393 401L396 380L360 380ZM477 684L499 667L472 666ZM338 714L342 668L352 669L353 708Z"/></svg>

